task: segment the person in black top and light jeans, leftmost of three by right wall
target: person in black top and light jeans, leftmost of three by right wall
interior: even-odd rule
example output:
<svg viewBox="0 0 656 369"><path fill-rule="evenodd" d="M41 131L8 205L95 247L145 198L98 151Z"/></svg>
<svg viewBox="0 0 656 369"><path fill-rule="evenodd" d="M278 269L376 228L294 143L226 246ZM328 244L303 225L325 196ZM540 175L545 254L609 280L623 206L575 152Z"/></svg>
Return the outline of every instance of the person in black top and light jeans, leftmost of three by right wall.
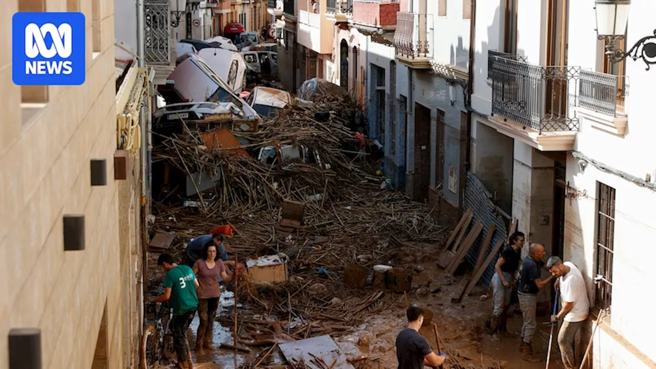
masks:
<svg viewBox="0 0 656 369"><path fill-rule="evenodd" d="M494 310L490 320L490 330L492 339L495 341L499 339L497 331L506 330L512 283L515 272L520 265L520 259L522 259L520 253L524 245L524 234L514 232L508 241L508 245L501 251L501 256L497 259L494 267L495 274L491 282Z"/></svg>

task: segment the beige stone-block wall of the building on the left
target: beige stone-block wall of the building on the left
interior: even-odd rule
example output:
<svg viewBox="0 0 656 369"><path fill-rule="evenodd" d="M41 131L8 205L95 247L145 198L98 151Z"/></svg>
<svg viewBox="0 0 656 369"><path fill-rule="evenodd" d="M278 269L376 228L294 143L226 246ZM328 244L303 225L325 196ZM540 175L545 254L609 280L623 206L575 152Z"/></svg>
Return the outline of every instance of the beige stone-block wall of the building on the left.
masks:
<svg viewBox="0 0 656 369"><path fill-rule="evenodd" d="M133 196L138 214L140 187L134 177L113 180L113 1L100 0L93 22L100 26L95 58L92 1L80 1L87 16L84 85L49 87L45 107L26 110L12 83L11 54L0 54L0 368L9 366L12 328L40 328L43 368L53 369L92 367L105 306L107 346L99 351L109 361L101 366L126 368L140 334L138 216L127 223L133 230L123 228ZM18 0L0 1L7 30L18 9ZM48 0L45 10L66 11L66 0ZM10 50L10 43L3 33L0 48ZM108 160L107 186L91 187L91 158ZM86 216L86 250L64 252L62 216L75 213Z"/></svg>

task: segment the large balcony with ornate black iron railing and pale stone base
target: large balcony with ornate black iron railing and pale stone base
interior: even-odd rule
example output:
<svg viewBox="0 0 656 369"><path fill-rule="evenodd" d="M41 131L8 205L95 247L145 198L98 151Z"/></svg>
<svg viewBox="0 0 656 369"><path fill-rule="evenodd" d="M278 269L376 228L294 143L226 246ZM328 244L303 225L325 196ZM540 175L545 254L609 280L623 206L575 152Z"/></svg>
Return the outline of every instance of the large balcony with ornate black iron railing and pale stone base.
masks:
<svg viewBox="0 0 656 369"><path fill-rule="evenodd" d="M497 131L543 151L571 150L579 129L573 106L580 68L538 66L488 56L492 119ZM570 95L572 92L572 95Z"/></svg>

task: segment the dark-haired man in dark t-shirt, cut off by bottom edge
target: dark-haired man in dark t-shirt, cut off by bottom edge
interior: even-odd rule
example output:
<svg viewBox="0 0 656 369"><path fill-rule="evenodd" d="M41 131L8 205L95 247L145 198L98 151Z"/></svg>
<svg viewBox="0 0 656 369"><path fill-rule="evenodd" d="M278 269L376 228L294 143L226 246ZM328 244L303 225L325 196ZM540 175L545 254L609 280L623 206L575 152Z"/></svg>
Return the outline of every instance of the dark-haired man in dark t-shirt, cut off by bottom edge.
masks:
<svg viewBox="0 0 656 369"><path fill-rule="evenodd" d="M440 366L447 355L436 355L428 344L428 340L419 334L419 328L424 322L424 311L416 306L407 309L408 326L396 336L396 358L398 369L422 369L424 365L434 368Z"/></svg>

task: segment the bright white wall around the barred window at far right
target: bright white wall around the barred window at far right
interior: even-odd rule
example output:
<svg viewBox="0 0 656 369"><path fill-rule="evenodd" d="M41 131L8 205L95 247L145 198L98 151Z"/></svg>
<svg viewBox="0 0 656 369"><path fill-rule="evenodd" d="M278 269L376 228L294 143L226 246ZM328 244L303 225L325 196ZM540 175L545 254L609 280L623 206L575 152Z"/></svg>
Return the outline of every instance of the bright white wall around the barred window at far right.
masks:
<svg viewBox="0 0 656 369"><path fill-rule="evenodd" d="M594 0L570 1L569 65L595 70L604 56L596 43ZM627 47L653 34L651 14L656 13L653 0L634 0L630 8ZM575 150L588 158L619 171L654 179L656 160L652 143L656 127L653 119L653 88L656 70L645 70L642 60L626 61L630 93L625 100L628 128L625 135L614 135L594 127L585 116L579 121ZM609 325L630 345L651 360L656 360L652 318L653 290L656 276L650 261L656 258L656 190L638 186L618 175L588 164L584 171L577 158L567 161L567 181L581 196L565 202L565 259L571 259L588 278L590 298L594 301L591 278L596 272L596 182L616 190L615 257L613 260L613 294ZM603 331L603 330L602 330ZM630 349L607 332L598 332L594 342L595 368L641 368Z"/></svg>

